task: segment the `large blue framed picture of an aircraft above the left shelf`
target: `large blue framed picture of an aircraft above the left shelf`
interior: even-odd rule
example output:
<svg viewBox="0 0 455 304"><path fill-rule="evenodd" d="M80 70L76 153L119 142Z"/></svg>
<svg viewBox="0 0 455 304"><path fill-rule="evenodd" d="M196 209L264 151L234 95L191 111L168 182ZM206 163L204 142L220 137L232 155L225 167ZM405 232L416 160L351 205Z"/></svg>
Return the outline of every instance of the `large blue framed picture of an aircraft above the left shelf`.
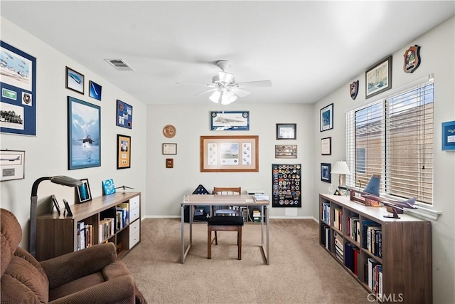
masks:
<svg viewBox="0 0 455 304"><path fill-rule="evenodd" d="M68 169L101 166L101 108L68 96Z"/></svg>

